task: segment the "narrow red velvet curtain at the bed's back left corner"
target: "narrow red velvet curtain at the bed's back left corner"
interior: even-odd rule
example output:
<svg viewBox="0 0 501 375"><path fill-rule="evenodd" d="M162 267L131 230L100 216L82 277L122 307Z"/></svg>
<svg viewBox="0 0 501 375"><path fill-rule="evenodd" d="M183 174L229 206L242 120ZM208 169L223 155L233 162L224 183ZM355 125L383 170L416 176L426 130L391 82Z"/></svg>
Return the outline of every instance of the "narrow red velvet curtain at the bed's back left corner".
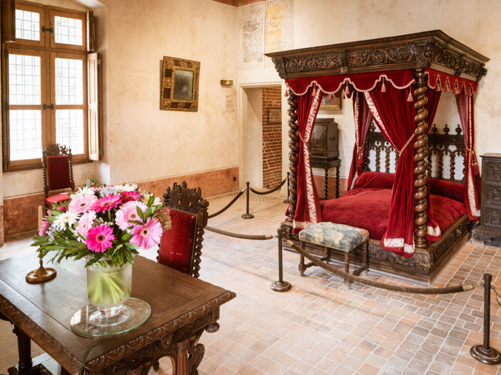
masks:
<svg viewBox="0 0 501 375"><path fill-rule="evenodd" d="M363 92L355 91L353 93L353 114L355 117L355 146L353 147L347 190L352 188L354 180L364 170L365 136L372 122L372 114Z"/></svg>

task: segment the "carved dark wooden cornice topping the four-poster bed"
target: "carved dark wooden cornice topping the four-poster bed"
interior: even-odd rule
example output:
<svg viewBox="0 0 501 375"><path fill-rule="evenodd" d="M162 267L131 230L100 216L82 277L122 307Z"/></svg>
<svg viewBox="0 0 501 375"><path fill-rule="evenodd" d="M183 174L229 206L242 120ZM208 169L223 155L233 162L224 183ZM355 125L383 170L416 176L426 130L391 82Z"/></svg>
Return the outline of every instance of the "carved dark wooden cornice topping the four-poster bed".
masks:
<svg viewBox="0 0 501 375"><path fill-rule="evenodd" d="M427 67L478 81L489 60L441 30L265 54L284 79Z"/></svg>

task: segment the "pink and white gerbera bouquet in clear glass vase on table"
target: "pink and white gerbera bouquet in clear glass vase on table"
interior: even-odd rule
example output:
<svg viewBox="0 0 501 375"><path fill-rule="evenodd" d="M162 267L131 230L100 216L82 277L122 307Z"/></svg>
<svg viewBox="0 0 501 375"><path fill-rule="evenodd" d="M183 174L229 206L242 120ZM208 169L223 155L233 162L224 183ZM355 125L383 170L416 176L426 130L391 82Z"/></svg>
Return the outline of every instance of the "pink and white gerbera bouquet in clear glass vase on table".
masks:
<svg viewBox="0 0 501 375"><path fill-rule="evenodd" d="M160 198L135 184L81 187L53 205L33 246L51 260L85 257L89 302L112 315L131 292L134 256L160 242L170 228Z"/></svg>

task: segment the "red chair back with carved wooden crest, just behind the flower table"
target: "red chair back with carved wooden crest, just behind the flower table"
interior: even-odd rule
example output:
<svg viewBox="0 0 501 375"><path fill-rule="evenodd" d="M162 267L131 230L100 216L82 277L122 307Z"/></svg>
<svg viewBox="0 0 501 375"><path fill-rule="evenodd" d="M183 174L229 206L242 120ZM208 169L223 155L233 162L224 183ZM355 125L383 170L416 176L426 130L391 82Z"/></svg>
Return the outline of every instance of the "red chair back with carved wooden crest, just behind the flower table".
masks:
<svg viewBox="0 0 501 375"><path fill-rule="evenodd" d="M209 202L202 199L200 188L187 188L186 181L174 183L163 194L171 228L163 232L157 260L161 264L199 276L204 227Z"/></svg>

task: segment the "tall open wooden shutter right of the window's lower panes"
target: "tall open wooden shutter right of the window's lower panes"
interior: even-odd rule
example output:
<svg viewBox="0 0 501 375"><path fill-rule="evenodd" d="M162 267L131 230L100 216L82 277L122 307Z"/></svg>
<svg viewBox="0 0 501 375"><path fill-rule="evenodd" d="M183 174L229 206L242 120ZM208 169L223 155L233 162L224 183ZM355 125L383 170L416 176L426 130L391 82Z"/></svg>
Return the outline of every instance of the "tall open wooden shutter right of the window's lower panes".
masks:
<svg viewBox="0 0 501 375"><path fill-rule="evenodd" d="M87 55L89 159L101 160L101 53Z"/></svg>

